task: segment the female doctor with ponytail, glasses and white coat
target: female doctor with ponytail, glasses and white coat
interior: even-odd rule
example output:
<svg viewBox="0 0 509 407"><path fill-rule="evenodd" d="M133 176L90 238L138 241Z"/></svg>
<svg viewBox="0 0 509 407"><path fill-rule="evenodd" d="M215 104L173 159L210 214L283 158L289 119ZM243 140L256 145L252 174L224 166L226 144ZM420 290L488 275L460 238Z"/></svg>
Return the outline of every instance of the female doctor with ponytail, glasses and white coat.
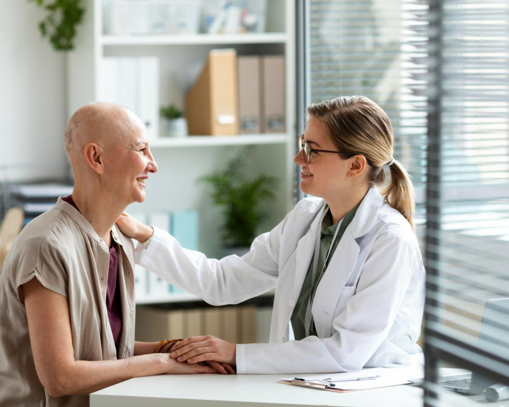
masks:
<svg viewBox="0 0 509 407"><path fill-rule="evenodd" d="M144 242L140 265L210 304L236 304L276 288L270 343L195 336L174 346L178 361L228 363L237 373L422 363L416 340L425 270L413 188L392 157L390 121L361 96L307 112L294 161L302 166L300 189L315 197L299 201L242 257L209 259L127 214L119 220L126 235ZM387 167L390 180L379 192Z"/></svg>

